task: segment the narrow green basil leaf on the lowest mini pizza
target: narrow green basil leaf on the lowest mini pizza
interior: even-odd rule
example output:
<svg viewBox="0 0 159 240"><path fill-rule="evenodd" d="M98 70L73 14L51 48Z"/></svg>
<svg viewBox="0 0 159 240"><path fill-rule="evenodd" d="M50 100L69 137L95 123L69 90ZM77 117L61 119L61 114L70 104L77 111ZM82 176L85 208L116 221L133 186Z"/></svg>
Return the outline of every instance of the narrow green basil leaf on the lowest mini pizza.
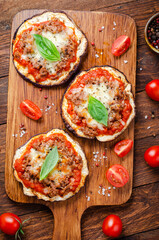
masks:
<svg viewBox="0 0 159 240"><path fill-rule="evenodd" d="M59 160L59 154L57 147L54 147L49 154L46 156L45 161L42 165L40 171L40 181L48 176L48 174L53 170Z"/></svg>

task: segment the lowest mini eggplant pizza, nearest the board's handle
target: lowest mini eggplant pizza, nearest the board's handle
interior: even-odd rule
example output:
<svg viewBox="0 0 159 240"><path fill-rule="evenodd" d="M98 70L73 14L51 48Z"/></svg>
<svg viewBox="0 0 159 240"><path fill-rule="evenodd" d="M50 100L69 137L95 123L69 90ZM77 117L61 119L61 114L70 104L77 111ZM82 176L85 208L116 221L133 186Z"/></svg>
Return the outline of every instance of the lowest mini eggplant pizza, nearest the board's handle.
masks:
<svg viewBox="0 0 159 240"><path fill-rule="evenodd" d="M15 178L24 194L45 201L65 200L84 185L88 175L84 152L63 130L32 137L13 161Z"/></svg>

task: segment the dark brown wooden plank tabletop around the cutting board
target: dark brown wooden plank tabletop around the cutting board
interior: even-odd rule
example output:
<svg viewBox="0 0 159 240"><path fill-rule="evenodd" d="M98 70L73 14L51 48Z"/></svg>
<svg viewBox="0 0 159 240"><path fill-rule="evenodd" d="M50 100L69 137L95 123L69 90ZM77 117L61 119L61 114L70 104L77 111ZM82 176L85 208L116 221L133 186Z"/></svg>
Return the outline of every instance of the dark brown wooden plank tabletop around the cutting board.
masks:
<svg viewBox="0 0 159 240"><path fill-rule="evenodd" d="M116 12L135 19L138 49L133 193L130 200L121 206L96 206L87 209L81 219L81 231L82 240L107 239L102 233L101 226L104 218L114 213L123 221L120 239L159 239L158 169L150 168L144 161L145 150L150 146L159 145L159 105L145 93L145 85L150 80L159 78L159 56L151 52L144 40L147 20L159 12L158 0L0 0L0 214L13 212L22 220L30 218L24 226L24 240L52 239L53 216L47 207L14 203L5 193L5 136L11 22L18 11L31 8ZM154 118L152 113L155 115ZM14 237L0 232L0 239L11 240Z"/></svg>

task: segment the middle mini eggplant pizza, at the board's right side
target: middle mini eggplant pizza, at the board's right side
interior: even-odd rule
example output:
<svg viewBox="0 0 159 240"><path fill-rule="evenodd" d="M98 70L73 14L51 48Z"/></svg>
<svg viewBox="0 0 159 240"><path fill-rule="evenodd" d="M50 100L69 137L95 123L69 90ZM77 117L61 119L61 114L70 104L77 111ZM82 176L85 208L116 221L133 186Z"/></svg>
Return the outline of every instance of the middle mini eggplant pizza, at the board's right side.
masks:
<svg viewBox="0 0 159 240"><path fill-rule="evenodd" d="M131 84L111 66L82 71L66 90L62 118L79 137L113 140L135 116Z"/></svg>

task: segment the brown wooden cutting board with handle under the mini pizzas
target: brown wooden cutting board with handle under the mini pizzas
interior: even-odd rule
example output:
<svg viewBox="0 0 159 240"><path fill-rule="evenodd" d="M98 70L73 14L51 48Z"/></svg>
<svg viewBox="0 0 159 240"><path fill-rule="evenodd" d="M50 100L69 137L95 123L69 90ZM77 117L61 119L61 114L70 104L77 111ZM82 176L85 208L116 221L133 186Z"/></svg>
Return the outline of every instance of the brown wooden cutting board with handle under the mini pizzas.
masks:
<svg viewBox="0 0 159 240"><path fill-rule="evenodd" d="M19 12L13 19L11 41L16 28L25 19L43 11L25 10ZM116 67L127 76L132 84L133 94L135 94L136 26L134 20L126 15L113 13L65 12L83 30L89 41L88 56L82 63L81 69L88 69L95 65ZM99 31L102 26L104 26L104 29ZM111 54L111 45L120 35L130 36L132 43L123 56L116 58ZM95 43L95 47L91 45L91 42ZM125 203L131 196L133 182L133 149L124 159L120 159L113 152L113 147L119 140L134 139L134 121L121 136L109 143L79 139L69 132L83 147L89 166L89 176L86 179L85 186L74 197L64 202L49 203L23 194L21 184L13 176L12 161L15 150L35 134L49 131L52 128L65 127L60 116L60 102L67 84L40 91L39 88L25 82L17 74L12 62L12 53L10 53L5 164L6 192L16 202L38 203L48 206L54 215L53 239L56 240L81 239L80 219L84 210L92 205ZM44 96L48 98L45 99ZM19 104L24 99L32 100L43 109L43 118L40 121L33 121L22 114ZM20 129L21 124L24 124L26 133ZM25 134L23 135L23 133ZM95 156L93 153L96 153ZM108 167L116 163L123 165L130 175L129 182L119 189L114 189L105 177ZM96 166L97 164L99 166Z"/></svg>

